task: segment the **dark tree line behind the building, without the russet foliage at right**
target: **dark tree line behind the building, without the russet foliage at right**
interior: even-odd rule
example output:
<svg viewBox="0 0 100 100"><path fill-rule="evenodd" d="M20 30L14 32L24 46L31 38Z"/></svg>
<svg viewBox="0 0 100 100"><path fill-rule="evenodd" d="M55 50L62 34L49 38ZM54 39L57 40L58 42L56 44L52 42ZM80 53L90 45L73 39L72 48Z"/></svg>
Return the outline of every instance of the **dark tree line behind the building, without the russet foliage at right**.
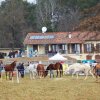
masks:
<svg viewBox="0 0 100 100"><path fill-rule="evenodd" d="M0 5L0 48L23 47L28 32L74 31L86 16L82 12L100 0L5 0Z"/></svg>

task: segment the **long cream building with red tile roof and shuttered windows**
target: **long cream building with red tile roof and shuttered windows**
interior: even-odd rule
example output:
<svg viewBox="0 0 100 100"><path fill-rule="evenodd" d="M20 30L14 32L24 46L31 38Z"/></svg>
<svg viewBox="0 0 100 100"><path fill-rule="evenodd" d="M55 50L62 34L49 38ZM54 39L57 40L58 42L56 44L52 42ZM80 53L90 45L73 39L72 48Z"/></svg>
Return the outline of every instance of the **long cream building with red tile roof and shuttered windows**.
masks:
<svg viewBox="0 0 100 100"><path fill-rule="evenodd" d="M27 45L27 56L50 55L60 52L64 55L100 54L99 32L48 32L28 33L24 44Z"/></svg>

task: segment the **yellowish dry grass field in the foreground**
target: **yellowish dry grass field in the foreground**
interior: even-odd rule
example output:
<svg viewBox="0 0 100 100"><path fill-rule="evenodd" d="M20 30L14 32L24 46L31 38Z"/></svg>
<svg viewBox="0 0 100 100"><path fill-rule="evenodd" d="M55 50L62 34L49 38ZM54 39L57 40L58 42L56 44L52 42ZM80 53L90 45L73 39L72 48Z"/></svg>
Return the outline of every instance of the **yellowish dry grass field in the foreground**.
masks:
<svg viewBox="0 0 100 100"><path fill-rule="evenodd" d="M0 100L100 100L100 83L91 76L83 80L62 78L30 80L25 76L20 83L0 82Z"/></svg>

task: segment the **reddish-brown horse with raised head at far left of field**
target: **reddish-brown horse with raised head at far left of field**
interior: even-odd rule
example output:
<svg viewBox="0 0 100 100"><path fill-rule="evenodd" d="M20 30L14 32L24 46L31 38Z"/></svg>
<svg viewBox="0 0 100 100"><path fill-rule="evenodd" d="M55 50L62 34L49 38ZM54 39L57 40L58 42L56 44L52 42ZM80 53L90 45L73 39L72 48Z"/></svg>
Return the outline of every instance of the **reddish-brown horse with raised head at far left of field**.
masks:
<svg viewBox="0 0 100 100"><path fill-rule="evenodd" d="M13 79L13 71L16 66L16 61L12 62L11 64L5 65L5 73L6 73L6 80L7 80L7 73L9 72L9 79Z"/></svg>

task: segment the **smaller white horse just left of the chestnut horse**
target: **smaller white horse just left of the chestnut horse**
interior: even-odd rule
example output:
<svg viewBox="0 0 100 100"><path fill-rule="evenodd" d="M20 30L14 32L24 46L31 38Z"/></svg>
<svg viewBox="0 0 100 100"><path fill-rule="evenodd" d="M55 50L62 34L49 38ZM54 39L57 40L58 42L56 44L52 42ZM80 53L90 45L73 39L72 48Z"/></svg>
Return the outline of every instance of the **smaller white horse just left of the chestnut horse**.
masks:
<svg viewBox="0 0 100 100"><path fill-rule="evenodd" d="M30 79L35 79L37 76L37 65L38 63L30 63L27 69L29 70Z"/></svg>

